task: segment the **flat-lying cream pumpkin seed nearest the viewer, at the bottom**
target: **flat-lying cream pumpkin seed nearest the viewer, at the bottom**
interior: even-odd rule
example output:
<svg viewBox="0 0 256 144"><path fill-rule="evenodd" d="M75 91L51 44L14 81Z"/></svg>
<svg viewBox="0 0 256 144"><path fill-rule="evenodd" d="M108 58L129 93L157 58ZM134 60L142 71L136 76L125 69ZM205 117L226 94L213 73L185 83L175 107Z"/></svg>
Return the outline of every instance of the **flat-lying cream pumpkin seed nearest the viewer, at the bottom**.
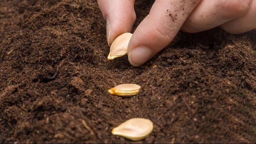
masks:
<svg viewBox="0 0 256 144"><path fill-rule="evenodd" d="M152 131L154 125L149 119L132 118L114 128L111 133L130 140L142 140Z"/></svg>

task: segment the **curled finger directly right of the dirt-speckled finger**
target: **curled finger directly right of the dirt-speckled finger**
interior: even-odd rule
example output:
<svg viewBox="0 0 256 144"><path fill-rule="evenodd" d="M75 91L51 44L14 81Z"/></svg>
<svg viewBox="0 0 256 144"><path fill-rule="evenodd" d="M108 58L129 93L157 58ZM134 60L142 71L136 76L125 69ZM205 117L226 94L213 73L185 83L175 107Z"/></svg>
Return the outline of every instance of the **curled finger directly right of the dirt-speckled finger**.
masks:
<svg viewBox="0 0 256 144"><path fill-rule="evenodd" d="M195 33L215 28L243 16L251 0L202 0L181 27L182 31Z"/></svg>

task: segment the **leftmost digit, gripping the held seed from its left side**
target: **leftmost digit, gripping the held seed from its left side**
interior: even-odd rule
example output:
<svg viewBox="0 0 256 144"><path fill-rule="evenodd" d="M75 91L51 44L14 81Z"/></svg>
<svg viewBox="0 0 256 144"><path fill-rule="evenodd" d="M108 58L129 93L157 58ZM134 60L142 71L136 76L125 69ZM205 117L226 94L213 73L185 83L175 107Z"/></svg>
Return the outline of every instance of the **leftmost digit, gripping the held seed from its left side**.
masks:
<svg viewBox="0 0 256 144"><path fill-rule="evenodd" d="M134 0L98 0L98 5L107 21L107 41L110 46L117 36L131 32L136 20Z"/></svg>

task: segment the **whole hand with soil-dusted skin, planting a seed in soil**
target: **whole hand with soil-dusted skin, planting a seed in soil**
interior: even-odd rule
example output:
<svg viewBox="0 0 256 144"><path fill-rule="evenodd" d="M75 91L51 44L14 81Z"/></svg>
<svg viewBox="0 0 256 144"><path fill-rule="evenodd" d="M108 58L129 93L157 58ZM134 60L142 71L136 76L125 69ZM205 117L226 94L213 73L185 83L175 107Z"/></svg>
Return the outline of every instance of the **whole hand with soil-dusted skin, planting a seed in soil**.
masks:
<svg viewBox="0 0 256 144"><path fill-rule="evenodd" d="M136 20L134 0L98 0L107 21L107 41L131 32ZM135 29L128 60L140 66L170 44L182 30L196 33L220 27L232 34L256 28L256 0L156 0Z"/></svg>

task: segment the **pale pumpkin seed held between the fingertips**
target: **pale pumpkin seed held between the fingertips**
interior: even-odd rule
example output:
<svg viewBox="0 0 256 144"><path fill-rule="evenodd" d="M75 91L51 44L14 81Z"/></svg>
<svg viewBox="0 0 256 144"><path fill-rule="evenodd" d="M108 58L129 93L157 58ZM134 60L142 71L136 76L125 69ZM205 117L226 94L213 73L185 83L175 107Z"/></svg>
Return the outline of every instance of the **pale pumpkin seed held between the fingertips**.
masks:
<svg viewBox="0 0 256 144"><path fill-rule="evenodd" d="M117 36L110 46L108 60L114 60L115 58L119 58L126 55L127 47L131 37L132 37L131 33L124 33L120 36Z"/></svg>

